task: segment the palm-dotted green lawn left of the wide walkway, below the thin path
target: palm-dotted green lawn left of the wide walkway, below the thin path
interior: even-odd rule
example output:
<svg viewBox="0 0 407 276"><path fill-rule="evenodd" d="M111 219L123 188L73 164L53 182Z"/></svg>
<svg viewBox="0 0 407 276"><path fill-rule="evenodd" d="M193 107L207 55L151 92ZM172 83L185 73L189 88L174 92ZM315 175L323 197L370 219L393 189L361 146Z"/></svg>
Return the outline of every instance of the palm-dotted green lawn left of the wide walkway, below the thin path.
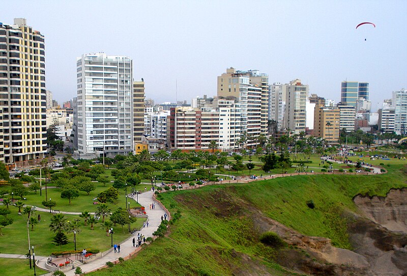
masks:
<svg viewBox="0 0 407 276"><path fill-rule="evenodd" d="M0 236L0 252L8 254L26 254L28 252L27 224L26 215L17 215L17 208L10 207L14 219L14 223L3 228L3 235ZM53 251L59 251L60 247L51 243L52 237L55 235L49 231L49 223L51 214L47 212L35 212L35 217L41 215L41 221L34 226L34 231L30 231L31 246L34 246L35 253L39 256L48 256ZM75 218L81 219L77 215L65 215L68 220ZM83 221L83 220L82 220ZM100 218L100 222L102 218ZM138 218L137 222L131 225L131 229L140 229L144 219ZM94 230L91 230L91 225L82 226L80 233L76 234L76 248L95 248L101 252L110 248L110 236L106 236L106 229L101 224L94 225ZM121 242L130 236L126 231L127 226L124 226L124 233L120 225L113 226L114 240ZM31 230L31 226L30 226ZM73 250L73 233L67 234L69 242L62 246L62 250Z"/></svg>

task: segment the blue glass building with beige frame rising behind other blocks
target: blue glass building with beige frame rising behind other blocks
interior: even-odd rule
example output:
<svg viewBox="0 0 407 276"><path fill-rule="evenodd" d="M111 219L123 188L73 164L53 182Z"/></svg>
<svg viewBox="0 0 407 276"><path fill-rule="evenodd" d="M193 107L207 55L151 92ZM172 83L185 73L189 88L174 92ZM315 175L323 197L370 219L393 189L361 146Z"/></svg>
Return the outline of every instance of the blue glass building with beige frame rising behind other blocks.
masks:
<svg viewBox="0 0 407 276"><path fill-rule="evenodd" d="M342 81L340 101L356 107L356 101L359 98L369 100L368 82Z"/></svg>

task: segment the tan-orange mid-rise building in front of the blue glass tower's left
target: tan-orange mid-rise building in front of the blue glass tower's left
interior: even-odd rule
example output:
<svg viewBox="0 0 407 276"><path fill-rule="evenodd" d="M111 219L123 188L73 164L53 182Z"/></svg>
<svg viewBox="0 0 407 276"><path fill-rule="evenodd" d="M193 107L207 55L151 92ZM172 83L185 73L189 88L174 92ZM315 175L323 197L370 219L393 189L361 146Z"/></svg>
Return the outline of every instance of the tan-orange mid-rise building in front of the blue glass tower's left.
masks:
<svg viewBox="0 0 407 276"><path fill-rule="evenodd" d="M340 132L340 110L336 106L315 105L314 135L329 144L336 144Z"/></svg>

